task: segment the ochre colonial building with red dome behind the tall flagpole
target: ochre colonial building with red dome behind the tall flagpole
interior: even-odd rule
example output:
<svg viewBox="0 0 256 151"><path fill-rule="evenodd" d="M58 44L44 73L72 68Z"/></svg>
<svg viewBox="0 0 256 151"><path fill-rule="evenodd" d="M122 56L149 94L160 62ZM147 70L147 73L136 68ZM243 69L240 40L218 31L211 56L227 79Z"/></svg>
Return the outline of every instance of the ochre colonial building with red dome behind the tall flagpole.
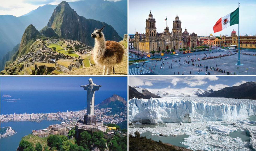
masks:
<svg viewBox="0 0 256 151"><path fill-rule="evenodd" d="M256 48L256 37L254 36L240 36L240 48ZM236 45L238 47L238 36L235 29L231 32L231 36L223 36L222 46L228 47L230 45Z"/></svg>

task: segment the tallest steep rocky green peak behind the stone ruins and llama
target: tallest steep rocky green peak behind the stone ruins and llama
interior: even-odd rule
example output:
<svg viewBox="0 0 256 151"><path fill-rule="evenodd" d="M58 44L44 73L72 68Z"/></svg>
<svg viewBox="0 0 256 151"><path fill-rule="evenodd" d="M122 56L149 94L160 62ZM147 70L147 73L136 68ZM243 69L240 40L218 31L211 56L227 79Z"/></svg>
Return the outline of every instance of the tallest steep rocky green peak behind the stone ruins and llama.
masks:
<svg viewBox="0 0 256 151"><path fill-rule="evenodd" d="M91 33L94 28L104 27L103 33L106 40L120 41L121 37L114 28L107 23L86 19L77 13L65 1L61 2L54 10L47 27L53 28L55 33L66 39L79 40L86 45L93 46L94 39Z"/></svg>

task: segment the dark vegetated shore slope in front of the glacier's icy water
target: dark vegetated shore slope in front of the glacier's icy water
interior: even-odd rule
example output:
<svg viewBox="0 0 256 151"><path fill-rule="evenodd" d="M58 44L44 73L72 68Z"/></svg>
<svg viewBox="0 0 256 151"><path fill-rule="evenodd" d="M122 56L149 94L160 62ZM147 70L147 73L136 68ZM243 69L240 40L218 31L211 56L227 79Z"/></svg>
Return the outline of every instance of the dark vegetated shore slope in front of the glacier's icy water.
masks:
<svg viewBox="0 0 256 151"><path fill-rule="evenodd" d="M132 150L145 150L145 151L181 151L178 150L172 146L166 145L162 143L160 140L159 142L153 141L150 139L146 139L145 137L139 137L139 132L135 131L134 133L137 133L135 137L132 137L131 134L129 134L129 151ZM137 137L136 137L137 136Z"/></svg>

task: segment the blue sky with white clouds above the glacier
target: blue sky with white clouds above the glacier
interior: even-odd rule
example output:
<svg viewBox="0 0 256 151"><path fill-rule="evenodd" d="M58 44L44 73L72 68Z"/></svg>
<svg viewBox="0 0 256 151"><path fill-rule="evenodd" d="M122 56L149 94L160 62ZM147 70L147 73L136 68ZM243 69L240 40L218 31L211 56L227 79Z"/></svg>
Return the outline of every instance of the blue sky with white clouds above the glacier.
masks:
<svg viewBox="0 0 256 151"><path fill-rule="evenodd" d="M152 93L174 89L178 93L193 93L197 89L210 87L217 91L255 80L255 76L129 76L129 85L143 87Z"/></svg>

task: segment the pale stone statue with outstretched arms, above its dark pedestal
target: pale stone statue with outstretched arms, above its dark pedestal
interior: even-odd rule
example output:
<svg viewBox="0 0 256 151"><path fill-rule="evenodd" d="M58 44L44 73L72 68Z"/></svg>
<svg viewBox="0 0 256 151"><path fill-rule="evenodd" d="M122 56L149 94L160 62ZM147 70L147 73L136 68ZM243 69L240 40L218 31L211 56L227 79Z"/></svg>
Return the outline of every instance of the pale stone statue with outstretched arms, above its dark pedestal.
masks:
<svg viewBox="0 0 256 151"><path fill-rule="evenodd" d="M84 90L87 91L87 115L94 115L94 91L98 91L101 87L101 85L96 85L92 82L92 79L90 78L89 84L87 85L81 85L81 87L84 87Z"/></svg>

